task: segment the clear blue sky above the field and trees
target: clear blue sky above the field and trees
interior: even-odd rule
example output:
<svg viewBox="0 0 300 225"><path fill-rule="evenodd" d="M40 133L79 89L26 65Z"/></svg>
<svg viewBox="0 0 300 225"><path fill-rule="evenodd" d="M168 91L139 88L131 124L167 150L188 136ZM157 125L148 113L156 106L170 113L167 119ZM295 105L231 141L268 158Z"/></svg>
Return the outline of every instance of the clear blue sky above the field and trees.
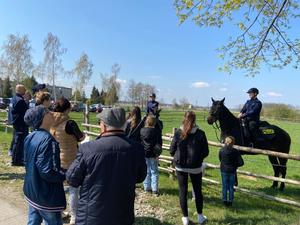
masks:
<svg viewBox="0 0 300 225"><path fill-rule="evenodd" d="M28 34L35 63L43 58L48 32L68 49L63 56L65 69L86 52L94 63L87 94L93 85L101 88L100 73L119 63L122 96L134 79L155 85L158 99L169 103L187 97L193 104L207 106L211 97L226 97L226 104L234 107L243 104L248 98L245 91L255 86L263 102L300 105L299 70L263 68L254 78L242 71L219 72L222 61L215 49L237 30L199 28L191 22L179 26L171 0L2 1L0 30L0 44L11 33ZM294 27L293 33L299 31L299 26ZM72 83L70 77L59 78L59 84Z"/></svg>

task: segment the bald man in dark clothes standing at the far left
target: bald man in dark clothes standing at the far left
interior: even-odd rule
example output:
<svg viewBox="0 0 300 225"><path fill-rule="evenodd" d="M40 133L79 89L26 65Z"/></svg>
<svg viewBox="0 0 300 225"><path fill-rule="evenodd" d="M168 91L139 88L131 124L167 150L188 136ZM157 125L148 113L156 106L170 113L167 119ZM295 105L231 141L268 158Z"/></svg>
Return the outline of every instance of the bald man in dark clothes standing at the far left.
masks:
<svg viewBox="0 0 300 225"><path fill-rule="evenodd" d="M26 89L24 85L18 84L16 86L16 95L11 100L12 107L10 108L9 113L13 125L13 138L11 142L11 154L12 154L12 166L23 166L23 145L24 139L28 135L28 126L24 122L24 115L28 109L23 95L25 94Z"/></svg>

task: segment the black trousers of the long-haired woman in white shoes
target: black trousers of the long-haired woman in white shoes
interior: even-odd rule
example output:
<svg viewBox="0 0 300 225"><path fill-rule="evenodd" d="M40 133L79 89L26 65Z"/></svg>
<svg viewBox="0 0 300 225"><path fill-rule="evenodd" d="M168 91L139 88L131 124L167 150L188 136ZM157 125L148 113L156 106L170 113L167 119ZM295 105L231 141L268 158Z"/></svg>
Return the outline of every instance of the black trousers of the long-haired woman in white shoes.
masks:
<svg viewBox="0 0 300 225"><path fill-rule="evenodd" d="M202 173L189 174L185 172L176 171L178 185L179 185L179 201L183 216L188 216L187 194L188 194L188 176L190 175L194 193L195 202L198 214L202 214L203 209L203 195L202 195Z"/></svg>

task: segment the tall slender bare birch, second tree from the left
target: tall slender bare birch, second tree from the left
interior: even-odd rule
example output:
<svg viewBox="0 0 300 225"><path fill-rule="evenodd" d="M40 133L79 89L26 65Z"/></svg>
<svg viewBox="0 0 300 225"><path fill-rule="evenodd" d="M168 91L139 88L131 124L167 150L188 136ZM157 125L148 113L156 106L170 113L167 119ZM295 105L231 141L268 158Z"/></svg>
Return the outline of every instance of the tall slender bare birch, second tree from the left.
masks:
<svg viewBox="0 0 300 225"><path fill-rule="evenodd" d="M56 101L55 82L59 73L64 73L61 56L67 52L63 48L60 40L52 33L48 33L47 38L44 40L44 68L49 82L53 86L53 96Z"/></svg>

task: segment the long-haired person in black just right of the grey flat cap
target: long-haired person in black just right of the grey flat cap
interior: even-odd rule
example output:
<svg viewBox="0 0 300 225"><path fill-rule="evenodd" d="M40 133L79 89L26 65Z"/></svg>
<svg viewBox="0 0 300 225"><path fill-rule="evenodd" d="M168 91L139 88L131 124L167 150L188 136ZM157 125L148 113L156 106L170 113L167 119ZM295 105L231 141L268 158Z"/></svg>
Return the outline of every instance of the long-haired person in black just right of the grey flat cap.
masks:
<svg viewBox="0 0 300 225"><path fill-rule="evenodd" d="M140 131L144 126L144 122L145 119L142 119L140 107L133 107L125 124L126 136L131 140L141 142Z"/></svg>

